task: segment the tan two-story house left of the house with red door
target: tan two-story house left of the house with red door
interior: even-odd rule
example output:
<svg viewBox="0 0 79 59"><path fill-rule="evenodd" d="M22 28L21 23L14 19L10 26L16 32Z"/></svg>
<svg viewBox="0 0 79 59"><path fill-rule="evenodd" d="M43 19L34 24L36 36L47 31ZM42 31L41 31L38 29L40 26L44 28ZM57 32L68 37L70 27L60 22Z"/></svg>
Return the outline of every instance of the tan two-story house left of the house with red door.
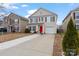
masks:
<svg viewBox="0 0 79 59"><path fill-rule="evenodd" d="M7 32L24 32L27 23L27 18L21 17L14 13L4 17L4 27L7 28Z"/></svg>

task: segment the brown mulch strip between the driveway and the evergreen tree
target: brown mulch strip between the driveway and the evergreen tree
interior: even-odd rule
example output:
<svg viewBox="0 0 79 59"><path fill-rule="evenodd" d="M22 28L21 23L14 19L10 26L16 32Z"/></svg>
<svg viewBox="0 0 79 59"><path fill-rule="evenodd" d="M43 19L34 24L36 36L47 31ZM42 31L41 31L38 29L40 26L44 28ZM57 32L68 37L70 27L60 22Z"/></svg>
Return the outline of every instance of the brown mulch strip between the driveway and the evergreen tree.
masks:
<svg viewBox="0 0 79 59"><path fill-rule="evenodd" d="M62 55L62 36L60 34L56 34L53 46L53 56L61 56L61 55Z"/></svg>

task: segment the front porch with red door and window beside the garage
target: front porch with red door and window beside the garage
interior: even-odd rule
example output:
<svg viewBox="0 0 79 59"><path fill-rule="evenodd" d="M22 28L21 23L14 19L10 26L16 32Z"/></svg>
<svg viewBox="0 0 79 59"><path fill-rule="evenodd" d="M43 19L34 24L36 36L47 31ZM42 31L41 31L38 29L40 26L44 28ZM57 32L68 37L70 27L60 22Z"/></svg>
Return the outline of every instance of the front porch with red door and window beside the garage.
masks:
<svg viewBox="0 0 79 59"><path fill-rule="evenodd" d="M44 23L29 24L28 28L30 29L31 33L45 33L45 25L44 25Z"/></svg>

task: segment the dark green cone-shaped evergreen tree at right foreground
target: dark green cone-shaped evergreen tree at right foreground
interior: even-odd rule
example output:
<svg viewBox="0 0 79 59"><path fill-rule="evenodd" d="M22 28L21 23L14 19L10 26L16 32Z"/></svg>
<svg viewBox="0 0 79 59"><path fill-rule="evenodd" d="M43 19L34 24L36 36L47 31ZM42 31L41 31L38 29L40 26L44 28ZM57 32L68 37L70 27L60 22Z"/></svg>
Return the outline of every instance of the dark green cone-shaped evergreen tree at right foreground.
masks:
<svg viewBox="0 0 79 59"><path fill-rule="evenodd" d="M64 54L70 55L72 50L75 50L74 53L77 54L78 44L78 33L72 19L70 19L62 42Z"/></svg>

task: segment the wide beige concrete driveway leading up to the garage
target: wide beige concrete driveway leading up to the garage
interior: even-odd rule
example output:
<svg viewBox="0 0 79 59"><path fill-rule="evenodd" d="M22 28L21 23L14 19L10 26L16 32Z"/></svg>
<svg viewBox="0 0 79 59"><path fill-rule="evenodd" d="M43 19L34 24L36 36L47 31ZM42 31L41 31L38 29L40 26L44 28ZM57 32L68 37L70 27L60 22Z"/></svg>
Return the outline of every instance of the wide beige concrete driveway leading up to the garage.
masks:
<svg viewBox="0 0 79 59"><path fill-rule="evenodd" d="M2 56L51 56L53 54L53 34L40 35L11 48L0 50ZM26 39L27 40L27 39Z"/></svg>

